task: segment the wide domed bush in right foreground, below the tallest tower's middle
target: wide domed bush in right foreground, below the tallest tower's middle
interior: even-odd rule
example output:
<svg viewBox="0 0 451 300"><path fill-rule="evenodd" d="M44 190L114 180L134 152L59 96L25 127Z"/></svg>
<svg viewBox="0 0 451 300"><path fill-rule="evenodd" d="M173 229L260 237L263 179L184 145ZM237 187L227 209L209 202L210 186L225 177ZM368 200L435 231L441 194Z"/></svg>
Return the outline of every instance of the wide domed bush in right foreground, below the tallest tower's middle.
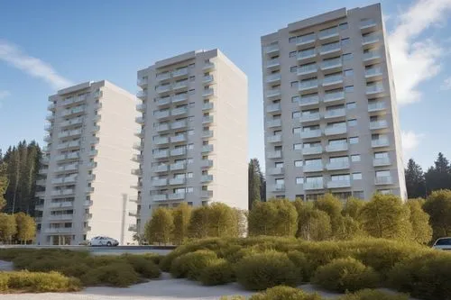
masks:
<svg viewBox="0 0 451 300"><path fill-rule="evenodd" d="M331 291L354 292L377 286L379 275L356 259L334 259L317 269L312 282Z"/></svg>

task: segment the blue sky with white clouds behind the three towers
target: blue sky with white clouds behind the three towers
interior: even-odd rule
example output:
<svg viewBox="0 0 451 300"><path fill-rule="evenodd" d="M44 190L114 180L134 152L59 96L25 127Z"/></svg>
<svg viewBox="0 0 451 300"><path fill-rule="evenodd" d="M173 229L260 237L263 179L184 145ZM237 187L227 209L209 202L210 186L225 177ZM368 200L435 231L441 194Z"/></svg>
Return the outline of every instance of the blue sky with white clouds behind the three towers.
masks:
<svg viewBox="0 0 451 300"><path fill-rule="evenodd" d="M135 93L136 71L189 50L222 50L249 78L249 157L263 163L260 36L366 0L2 1L0 149L41 143L48 95L107 79ZM320 4L320 5L318 5ZM382 1L400 105L404 160L451 159L451 0Z"/></svg>

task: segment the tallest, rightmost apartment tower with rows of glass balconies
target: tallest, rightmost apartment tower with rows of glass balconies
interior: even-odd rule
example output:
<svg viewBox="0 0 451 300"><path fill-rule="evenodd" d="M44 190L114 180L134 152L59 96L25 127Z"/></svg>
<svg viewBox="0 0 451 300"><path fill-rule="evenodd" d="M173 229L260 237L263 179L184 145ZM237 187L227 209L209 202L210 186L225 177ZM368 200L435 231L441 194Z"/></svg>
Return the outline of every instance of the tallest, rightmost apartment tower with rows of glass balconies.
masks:
<svg viewBox="0 0 451 300"><path fill-rule="evenodd" d="M380 5L262 36L267 197L407 197Z"/></svg>

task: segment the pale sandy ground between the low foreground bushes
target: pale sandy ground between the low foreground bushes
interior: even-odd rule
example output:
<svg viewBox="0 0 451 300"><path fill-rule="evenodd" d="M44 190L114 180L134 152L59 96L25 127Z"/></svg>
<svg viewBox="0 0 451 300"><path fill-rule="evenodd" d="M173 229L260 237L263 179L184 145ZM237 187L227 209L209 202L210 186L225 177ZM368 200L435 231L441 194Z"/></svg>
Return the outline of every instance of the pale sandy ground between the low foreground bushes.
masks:
<svg viewBox="0 0 451 300"><path fill-rule="evenodd" d="M0 270L10 270L10 262L0 260ZM336 299L338 294L319 291L311 285L299 286L307 292L317 292L329 299ZM219 300L222 295L253 295L236 283L226 286L200 286L187 279L174 279L163 274L161 279L153 280L127 288L87 287L78 293L44 293L1 295L2 300ZM416 300L411 298L411 300Z"/></svg>

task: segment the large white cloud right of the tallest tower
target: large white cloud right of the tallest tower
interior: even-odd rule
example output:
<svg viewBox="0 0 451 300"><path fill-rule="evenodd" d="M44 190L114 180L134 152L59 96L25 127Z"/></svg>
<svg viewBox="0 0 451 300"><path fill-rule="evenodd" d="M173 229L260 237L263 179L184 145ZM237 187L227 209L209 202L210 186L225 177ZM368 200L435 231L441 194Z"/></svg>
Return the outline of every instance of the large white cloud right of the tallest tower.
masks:
<svg viewBox="0 0 451 300"><path fill-rule="evenodd" d="M400 105L419 101L419 84L440 71L440 58L446 50L437 41L419 36L432 25L446 22L449 10L451 0L418 0L396 18L389 47Z"/></svg>

